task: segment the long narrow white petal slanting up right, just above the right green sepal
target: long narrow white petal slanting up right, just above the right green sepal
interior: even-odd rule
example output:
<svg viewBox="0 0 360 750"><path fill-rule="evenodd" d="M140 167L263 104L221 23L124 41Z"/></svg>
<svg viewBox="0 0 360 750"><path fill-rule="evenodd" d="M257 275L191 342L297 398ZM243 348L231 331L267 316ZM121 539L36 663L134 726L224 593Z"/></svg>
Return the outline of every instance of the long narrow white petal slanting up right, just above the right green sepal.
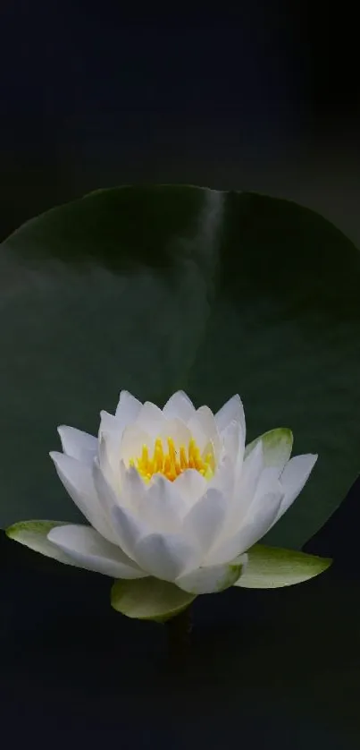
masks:
<svg viewBox="0 0 360 750"><path fill-rule="evenodd" d="M244 525L237 533L226 537L220 545L214 547L207 556L208 565L219 565L246 552L256 541L272 527L276 518L283 495L279 492L269 492L263 497L254 513L247 516Z"/></svg>

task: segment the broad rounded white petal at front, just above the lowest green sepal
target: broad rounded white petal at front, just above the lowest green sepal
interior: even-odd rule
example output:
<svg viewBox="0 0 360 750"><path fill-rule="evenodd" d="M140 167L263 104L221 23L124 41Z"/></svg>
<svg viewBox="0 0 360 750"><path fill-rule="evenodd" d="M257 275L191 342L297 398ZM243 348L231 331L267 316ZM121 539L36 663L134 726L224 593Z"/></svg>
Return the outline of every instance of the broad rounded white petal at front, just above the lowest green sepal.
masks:
<svg viewBox="0 0 360 750"><path fill-rule="evenodd" d="M138 541L134 559L155 578L173 582L186 569L197 567L199 558L199 550L179 534L153 533Z"/></svg>

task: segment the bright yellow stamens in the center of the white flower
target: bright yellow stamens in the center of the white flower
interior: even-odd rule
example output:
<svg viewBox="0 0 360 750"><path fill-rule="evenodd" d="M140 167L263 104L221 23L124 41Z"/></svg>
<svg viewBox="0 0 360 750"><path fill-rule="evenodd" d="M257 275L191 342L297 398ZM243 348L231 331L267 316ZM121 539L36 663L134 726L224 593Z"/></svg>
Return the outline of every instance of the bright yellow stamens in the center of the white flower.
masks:
<svg viewBox="0 0 360 750"><path fill-rule="evenodd" d="M187 469L196 469L205 479L213 476L215 462L213 446L211 443L205 449L205 455L201 455L200 448L193 438L188 441L188 448L180 446L176 450L173 439L167 439L167 452L163 449L163 440L155 440L154 454L150 458L148 447L143 446L139 458L131 458L130 466L135 466L146 482L149 482L153 474L163 474L166 479L173 482L182 472Z"/></svg>

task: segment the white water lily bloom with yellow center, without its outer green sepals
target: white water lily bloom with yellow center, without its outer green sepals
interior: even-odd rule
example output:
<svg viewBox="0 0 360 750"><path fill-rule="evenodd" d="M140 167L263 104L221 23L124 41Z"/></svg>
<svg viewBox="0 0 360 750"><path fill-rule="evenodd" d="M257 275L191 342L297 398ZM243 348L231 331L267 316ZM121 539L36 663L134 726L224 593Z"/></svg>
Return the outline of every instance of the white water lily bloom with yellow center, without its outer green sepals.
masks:
<svg viewBox="0 0 360 750"><path fill-rule="evenodd" d="M59 434L63 453L50 455L91 525L55 525L47 551L38 551L51 547L68 564L122 579L153 576L194 594L239 579L246 551L297 498L317 458L289 460L285 429L245 449L239 396L213 415L182 391L163 410L122 391L115 415L101 413L98 438L65 426Z"/></svg>

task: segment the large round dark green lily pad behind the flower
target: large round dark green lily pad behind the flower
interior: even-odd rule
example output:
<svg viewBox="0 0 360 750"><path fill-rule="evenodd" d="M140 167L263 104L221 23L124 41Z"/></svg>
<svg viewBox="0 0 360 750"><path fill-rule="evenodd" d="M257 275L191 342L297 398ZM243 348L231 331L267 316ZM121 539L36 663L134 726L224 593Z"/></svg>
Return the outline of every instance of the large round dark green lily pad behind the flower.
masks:
<svg viewBox="0 0 360 750"><path fill-rule="evenodd" d="M268 541L301 546L360 465L360 259L285 200L196 187L98 191L3 243L2 525L79 515L47 453L56 426L96 432L121 388L184 388L218 409L239 392L248 440L294 432L319 453Z"/></svg>

